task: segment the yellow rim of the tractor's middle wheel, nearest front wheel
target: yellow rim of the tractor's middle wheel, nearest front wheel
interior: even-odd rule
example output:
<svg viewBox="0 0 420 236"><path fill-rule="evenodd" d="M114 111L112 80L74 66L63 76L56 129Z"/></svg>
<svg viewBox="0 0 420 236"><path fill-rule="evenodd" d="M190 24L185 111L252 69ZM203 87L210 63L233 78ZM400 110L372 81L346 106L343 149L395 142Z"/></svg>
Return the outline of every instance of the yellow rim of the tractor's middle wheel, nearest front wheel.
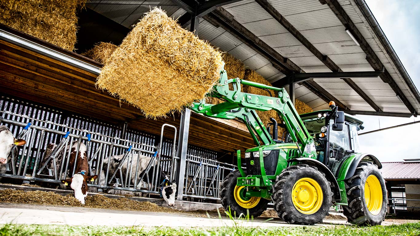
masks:
<svg viewBox="0 0 420 236"><path fill-rule="evenodd" d="M314 214L322 206L321 186L312 178L301 178L293 186L291 199L299 212L306 215Z"/></svg>

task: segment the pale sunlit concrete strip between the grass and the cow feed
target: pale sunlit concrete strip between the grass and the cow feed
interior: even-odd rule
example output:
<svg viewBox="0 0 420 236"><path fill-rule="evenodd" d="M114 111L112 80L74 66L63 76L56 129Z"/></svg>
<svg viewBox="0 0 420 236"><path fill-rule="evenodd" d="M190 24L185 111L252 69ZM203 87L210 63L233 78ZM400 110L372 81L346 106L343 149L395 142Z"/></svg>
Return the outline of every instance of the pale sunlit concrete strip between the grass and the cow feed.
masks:
<svg viewBox="0 0 420 236"><path fill-rule="evenodd" d="M105 210L87 207L65 207L51 205L29 205L0 203L0 224L60 224L86 226L167 226L167 227L218 227L234 226L232 220L223 218L195 217L188 213L137 212L126 210ZM241 226L294 227L280 219L265 222L265 219L236 221ZM324 220L317 226L347 224L345 220ZM385 223L389 224L389 223Z"/></svg>

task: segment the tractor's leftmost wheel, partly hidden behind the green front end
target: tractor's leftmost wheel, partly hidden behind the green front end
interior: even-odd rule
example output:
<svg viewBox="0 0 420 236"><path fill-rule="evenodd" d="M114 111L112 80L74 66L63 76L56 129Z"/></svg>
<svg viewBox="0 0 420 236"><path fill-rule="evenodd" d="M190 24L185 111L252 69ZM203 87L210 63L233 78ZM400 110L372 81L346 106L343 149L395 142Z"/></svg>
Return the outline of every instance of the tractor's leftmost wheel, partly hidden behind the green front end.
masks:
<svg viewBox="0 0 420 236"><path fill-rule="evenodd" d="M261 197L238 199L241 189L244 188L242 186L236 186L236 178L238 177L241 177L241 173L239 170L234 170L223 180L222 191L220 191L222 206L226 211L229 212L230 210L234 217L240 217L241 214L242 217L245 217L249 213L249 218L257 218L262 212L267 210L267 205L270 201Z"/></svg>

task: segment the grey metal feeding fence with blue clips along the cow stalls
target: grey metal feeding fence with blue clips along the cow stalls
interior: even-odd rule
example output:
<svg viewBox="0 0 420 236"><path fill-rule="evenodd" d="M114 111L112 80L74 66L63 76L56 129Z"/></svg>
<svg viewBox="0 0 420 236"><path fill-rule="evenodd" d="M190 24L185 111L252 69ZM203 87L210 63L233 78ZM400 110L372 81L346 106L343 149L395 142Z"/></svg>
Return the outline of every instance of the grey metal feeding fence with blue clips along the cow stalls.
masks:
<svg viewBox="0 0 420 236"><path fill-rule="evenodd" d="M72 169L68 166L69 150L75 143L77 150L82 144L86 146L89 174L98 175L89 186L98 191L159 194L159 172L165 171L176 182L184 178L184 186L178 186L184 197L217 200L221 181L234 169L234 165L215 160L218 152L194 146L189 146L186 163L181 165L176 156L176 127L168 124L156 136L128 130L126 124L118 127L8 97L1 97L0 108L0 124L7 126L16 138L26 140L22 147L13 146L0 177L21 179L23 183L58 184L60 179L72 176L74 173L68 173ZM175 129L172 140L163 138L167 128ZM46 155L48 144L56 146ZM58 155L62 155L62 160L57 166ZM110 160L117 155L122 159L113 168ZM148 157L146 169L144 163L139 163L138 155ZM185 176L177 176L180 167L186 168Z"/></svg>

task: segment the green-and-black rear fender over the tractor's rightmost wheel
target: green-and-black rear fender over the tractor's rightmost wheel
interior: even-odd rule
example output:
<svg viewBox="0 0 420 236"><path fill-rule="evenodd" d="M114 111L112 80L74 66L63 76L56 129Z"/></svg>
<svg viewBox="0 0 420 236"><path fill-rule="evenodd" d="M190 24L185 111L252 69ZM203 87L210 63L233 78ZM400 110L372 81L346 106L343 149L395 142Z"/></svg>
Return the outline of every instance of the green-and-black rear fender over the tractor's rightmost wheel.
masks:
<svg viewBox="0 0 420 236"><path fill-rule="evenodd" d="M347 157L340 166L337 181L351 178L354 175L360 161L370 161L373 162L373 164L378 165L378 169L382 168L381 162L374 155L370 155L368 153L356 153Z"/></svg>

